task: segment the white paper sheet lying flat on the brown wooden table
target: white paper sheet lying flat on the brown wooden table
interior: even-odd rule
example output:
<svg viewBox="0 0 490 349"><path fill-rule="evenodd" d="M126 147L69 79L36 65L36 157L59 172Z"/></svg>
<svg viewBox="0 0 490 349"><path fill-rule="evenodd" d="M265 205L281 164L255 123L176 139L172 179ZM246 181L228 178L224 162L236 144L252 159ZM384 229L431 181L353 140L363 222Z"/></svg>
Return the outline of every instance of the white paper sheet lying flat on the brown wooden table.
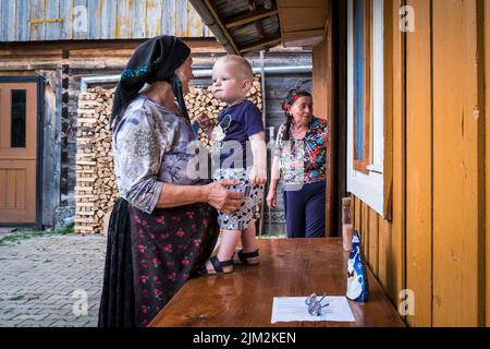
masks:
<svg viewBox="0 0 490 349"><path fill-rule="evenodd" d="M315 316L308 313L305 304L307 297L274 297L272 302L271 323L293 321L334 321L355 322L354 314L345 297L326 297L321 309L321 315Z"/></svg>

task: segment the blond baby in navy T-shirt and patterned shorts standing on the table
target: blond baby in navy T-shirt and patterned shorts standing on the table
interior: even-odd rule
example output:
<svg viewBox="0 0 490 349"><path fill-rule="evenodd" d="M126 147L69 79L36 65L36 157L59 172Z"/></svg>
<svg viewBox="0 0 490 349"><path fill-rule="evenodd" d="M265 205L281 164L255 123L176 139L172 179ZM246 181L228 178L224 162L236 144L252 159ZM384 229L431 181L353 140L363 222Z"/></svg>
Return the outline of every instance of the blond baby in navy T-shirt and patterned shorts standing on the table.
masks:
<svg viewBox="0 0 490 349"><path fill-rule="evenodd" d="M262 202L267 182L267 149L260 110L246 99L254 74L248 61L240 56L224 56L212 69L213 96L226 103L211 129L206 115L197 122L211 133L213 180L240 180L229 189L243 192L245 202L230 215L219 213L221 244L216 256L206 262L203 274L233 272L234 263L258 264L254 207ZM242 240L242 250L235 252Z"/></svg>

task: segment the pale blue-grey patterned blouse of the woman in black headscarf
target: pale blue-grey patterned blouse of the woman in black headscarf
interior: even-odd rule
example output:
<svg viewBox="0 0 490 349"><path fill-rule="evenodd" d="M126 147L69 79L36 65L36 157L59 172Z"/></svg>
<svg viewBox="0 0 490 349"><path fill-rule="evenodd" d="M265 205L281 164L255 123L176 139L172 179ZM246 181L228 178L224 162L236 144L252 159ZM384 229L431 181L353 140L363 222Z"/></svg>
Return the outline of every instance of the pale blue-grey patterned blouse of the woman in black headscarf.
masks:
<svg viewBox="0 0 490 349"><path fill-rule="evenodd" d="M140 95L123 111L112 135L119 194L131 205L151 214L163 183L192 185L187 152L196 137L180 115ZM196 144L196 146L199 143Z"/></svg>

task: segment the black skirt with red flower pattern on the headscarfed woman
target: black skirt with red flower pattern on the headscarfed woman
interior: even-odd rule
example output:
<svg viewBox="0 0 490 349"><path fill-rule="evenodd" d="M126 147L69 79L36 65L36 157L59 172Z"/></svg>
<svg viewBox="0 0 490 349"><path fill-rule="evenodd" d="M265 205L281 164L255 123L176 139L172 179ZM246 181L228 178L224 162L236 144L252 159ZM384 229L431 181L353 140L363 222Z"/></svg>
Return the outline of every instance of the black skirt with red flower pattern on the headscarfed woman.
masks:
<svg viewBox="0 0 490 349"><path fill-rule="evenodd" d="M146 214L119 198L109 222L100 327L146 326L210 256L216 210L204 203Z"/></svg>

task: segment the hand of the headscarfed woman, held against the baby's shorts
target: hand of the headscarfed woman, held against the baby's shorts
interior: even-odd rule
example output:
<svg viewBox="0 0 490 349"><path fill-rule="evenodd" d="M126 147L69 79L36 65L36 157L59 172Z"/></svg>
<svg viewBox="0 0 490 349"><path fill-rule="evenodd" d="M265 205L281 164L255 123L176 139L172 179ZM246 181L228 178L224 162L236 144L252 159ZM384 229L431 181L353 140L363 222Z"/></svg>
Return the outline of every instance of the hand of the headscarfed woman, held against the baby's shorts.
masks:
<svg viewBox="0 0 490 349"><path fill-rule="evenodd" d="M226 185L236 185L238 183L238 180L221 180L207 184L207 203L230 215L243 204L244 194L228 190Z"/></svg>

